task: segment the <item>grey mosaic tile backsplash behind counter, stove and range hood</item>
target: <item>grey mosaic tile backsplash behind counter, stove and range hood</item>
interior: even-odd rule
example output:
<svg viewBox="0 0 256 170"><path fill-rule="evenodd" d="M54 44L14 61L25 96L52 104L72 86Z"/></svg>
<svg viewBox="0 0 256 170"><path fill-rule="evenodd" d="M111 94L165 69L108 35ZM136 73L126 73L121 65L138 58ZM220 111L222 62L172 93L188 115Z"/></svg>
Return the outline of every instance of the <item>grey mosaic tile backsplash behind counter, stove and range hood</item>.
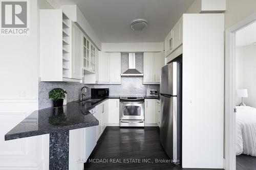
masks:
<svg viewBox="0 0 256 170"><path fill-rule="evenodd" d="M121 55L121 72L128 69L129 55ZM136 54L136 69L143 72L143 54ZM159 91L159 85L144 85L143 77L122 77L122 84L81 84L70 82L39 82L38 87L38 107L39 109L45 109L52 107L52 100L48 98L48 93L53 88L59 87L67 91L67 102L79 100L80 88L82 86L88 86L89 88L109 88L110 95L145 95L146 89L157 89ZM90 96L90 89L87 90L86 96Z"/></svg>

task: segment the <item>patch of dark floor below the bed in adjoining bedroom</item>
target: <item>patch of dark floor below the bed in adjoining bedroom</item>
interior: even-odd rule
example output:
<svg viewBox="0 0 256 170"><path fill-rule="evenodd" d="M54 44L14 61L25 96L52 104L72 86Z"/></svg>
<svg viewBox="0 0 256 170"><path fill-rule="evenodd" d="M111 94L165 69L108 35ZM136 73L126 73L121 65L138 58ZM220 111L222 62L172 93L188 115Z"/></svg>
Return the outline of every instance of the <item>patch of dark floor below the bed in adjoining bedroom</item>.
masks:
<svg viewBox="0 0 256 170"><path fill-rule="evenodd" d="M237 156L237 170L255 170L256 169L256 157L249 155Z"/></svg>

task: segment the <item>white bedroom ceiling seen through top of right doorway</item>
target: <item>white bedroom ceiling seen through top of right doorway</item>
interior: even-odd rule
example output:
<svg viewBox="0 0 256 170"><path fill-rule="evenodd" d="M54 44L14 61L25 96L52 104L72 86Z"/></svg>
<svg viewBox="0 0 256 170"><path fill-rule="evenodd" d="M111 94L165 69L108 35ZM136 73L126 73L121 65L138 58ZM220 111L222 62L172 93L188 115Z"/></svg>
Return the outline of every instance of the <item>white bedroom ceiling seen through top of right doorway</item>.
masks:
<svg viewBox="0 0 256 170"><path fill-rule="evenodd" d="M256 42L256 22L237 32L237 46L251 45Z"/></svg>

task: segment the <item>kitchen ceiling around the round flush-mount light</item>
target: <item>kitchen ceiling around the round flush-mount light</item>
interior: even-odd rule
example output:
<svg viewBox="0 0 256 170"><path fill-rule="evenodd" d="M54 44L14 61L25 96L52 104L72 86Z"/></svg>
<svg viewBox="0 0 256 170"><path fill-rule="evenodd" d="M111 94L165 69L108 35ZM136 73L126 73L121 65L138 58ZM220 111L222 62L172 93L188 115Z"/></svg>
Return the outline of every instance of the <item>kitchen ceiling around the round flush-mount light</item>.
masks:
<svg viewBox="0 0 256 170"><path fill-rule="evenodd" d="M78 5L102 42L163 42L194 0L59 0ZM148 22L146 30L133 31L136 18Z"/></svg>

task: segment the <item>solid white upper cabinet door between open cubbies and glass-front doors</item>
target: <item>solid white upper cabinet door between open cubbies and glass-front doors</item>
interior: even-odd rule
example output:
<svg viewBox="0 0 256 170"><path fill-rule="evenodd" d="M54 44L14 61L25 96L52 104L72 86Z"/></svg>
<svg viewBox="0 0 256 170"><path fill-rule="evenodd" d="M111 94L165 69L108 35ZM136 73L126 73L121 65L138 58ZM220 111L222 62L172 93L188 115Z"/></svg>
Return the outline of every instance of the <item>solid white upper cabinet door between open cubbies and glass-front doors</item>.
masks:
<svg viewBox="0 0 256 170"><path fill-rule="evenodd" d="M72 78L82 79L83 68L82 68L82 31L75 25L72 24Z"/></svg>

